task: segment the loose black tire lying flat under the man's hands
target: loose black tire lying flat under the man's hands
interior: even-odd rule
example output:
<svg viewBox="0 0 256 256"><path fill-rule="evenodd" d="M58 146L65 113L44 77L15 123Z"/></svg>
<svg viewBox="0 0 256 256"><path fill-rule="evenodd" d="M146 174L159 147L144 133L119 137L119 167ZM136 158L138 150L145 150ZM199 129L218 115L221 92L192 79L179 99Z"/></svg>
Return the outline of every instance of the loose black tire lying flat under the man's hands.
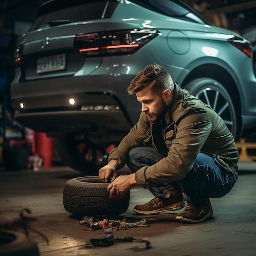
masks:
<svg viewBox="0 0 256 256"><path fill-rule="evenodd" d="M98 176L68 180L63 190L65 210L79 216L110 216L126 212L130 191L124 198L110 199L108 184L101 182Z"/></svg>

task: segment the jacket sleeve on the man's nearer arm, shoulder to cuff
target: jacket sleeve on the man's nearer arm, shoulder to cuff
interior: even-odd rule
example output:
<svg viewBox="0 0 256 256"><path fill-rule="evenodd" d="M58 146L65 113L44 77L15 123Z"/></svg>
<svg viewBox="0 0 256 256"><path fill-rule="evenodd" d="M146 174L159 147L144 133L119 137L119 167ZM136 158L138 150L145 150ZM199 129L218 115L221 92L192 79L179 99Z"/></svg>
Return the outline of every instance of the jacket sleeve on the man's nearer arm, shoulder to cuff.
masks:
<svg viewBox="0 0 256 256"><path fill-rule="evenodd" d="M191 109L192 110L192 109ZM137 184L143 188L180 180L193 167L193 163L211 132L211 121L205 110L187 112L177 125L175 139L168 155L152 166L135 173Z"/></svg>

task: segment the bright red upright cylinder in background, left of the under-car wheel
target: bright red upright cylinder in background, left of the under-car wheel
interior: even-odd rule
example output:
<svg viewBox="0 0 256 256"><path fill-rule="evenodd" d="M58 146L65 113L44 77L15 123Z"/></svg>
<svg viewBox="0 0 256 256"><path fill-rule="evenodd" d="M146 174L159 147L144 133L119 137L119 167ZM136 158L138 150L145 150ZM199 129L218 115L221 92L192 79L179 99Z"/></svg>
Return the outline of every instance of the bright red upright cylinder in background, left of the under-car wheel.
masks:
<svg viewBox="0 0 256 256"><path fill-rule="evenodd" d="M36 153L44 158L43 167L52 166L53 138L46 136L44 132L35 132Z"/></svg>

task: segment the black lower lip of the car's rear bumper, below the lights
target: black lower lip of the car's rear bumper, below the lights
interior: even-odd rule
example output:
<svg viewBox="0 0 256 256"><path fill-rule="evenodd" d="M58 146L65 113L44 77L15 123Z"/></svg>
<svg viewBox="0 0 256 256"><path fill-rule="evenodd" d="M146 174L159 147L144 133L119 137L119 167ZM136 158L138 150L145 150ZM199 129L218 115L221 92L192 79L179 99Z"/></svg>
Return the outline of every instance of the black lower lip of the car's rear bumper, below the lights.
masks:
<svg viewBox="0 0 256 256"><path fill-rule="evenodd" d="M121 110L110 111L52 111L34 113L16 113L15 119L23 126L38 132L62 133L79 129L91 129L92 126L112 130L129 130L124 113ZM104 124L104 126L103 126Z"/></svg>

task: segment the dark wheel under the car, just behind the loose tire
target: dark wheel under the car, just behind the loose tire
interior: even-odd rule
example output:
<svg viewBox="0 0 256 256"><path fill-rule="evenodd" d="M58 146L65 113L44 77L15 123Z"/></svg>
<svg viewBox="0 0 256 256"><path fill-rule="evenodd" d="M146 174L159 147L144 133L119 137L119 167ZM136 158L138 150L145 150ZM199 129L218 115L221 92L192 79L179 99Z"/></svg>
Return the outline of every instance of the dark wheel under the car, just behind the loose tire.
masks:
<svg viewBox="0 0 256 256"><path fill-rule="evenodd" d="M83 134L69 133L64 138L56 138L55 147L64 164L88 175L98 174L99 169L108 163L112 144L94 144Z"/></svg>

